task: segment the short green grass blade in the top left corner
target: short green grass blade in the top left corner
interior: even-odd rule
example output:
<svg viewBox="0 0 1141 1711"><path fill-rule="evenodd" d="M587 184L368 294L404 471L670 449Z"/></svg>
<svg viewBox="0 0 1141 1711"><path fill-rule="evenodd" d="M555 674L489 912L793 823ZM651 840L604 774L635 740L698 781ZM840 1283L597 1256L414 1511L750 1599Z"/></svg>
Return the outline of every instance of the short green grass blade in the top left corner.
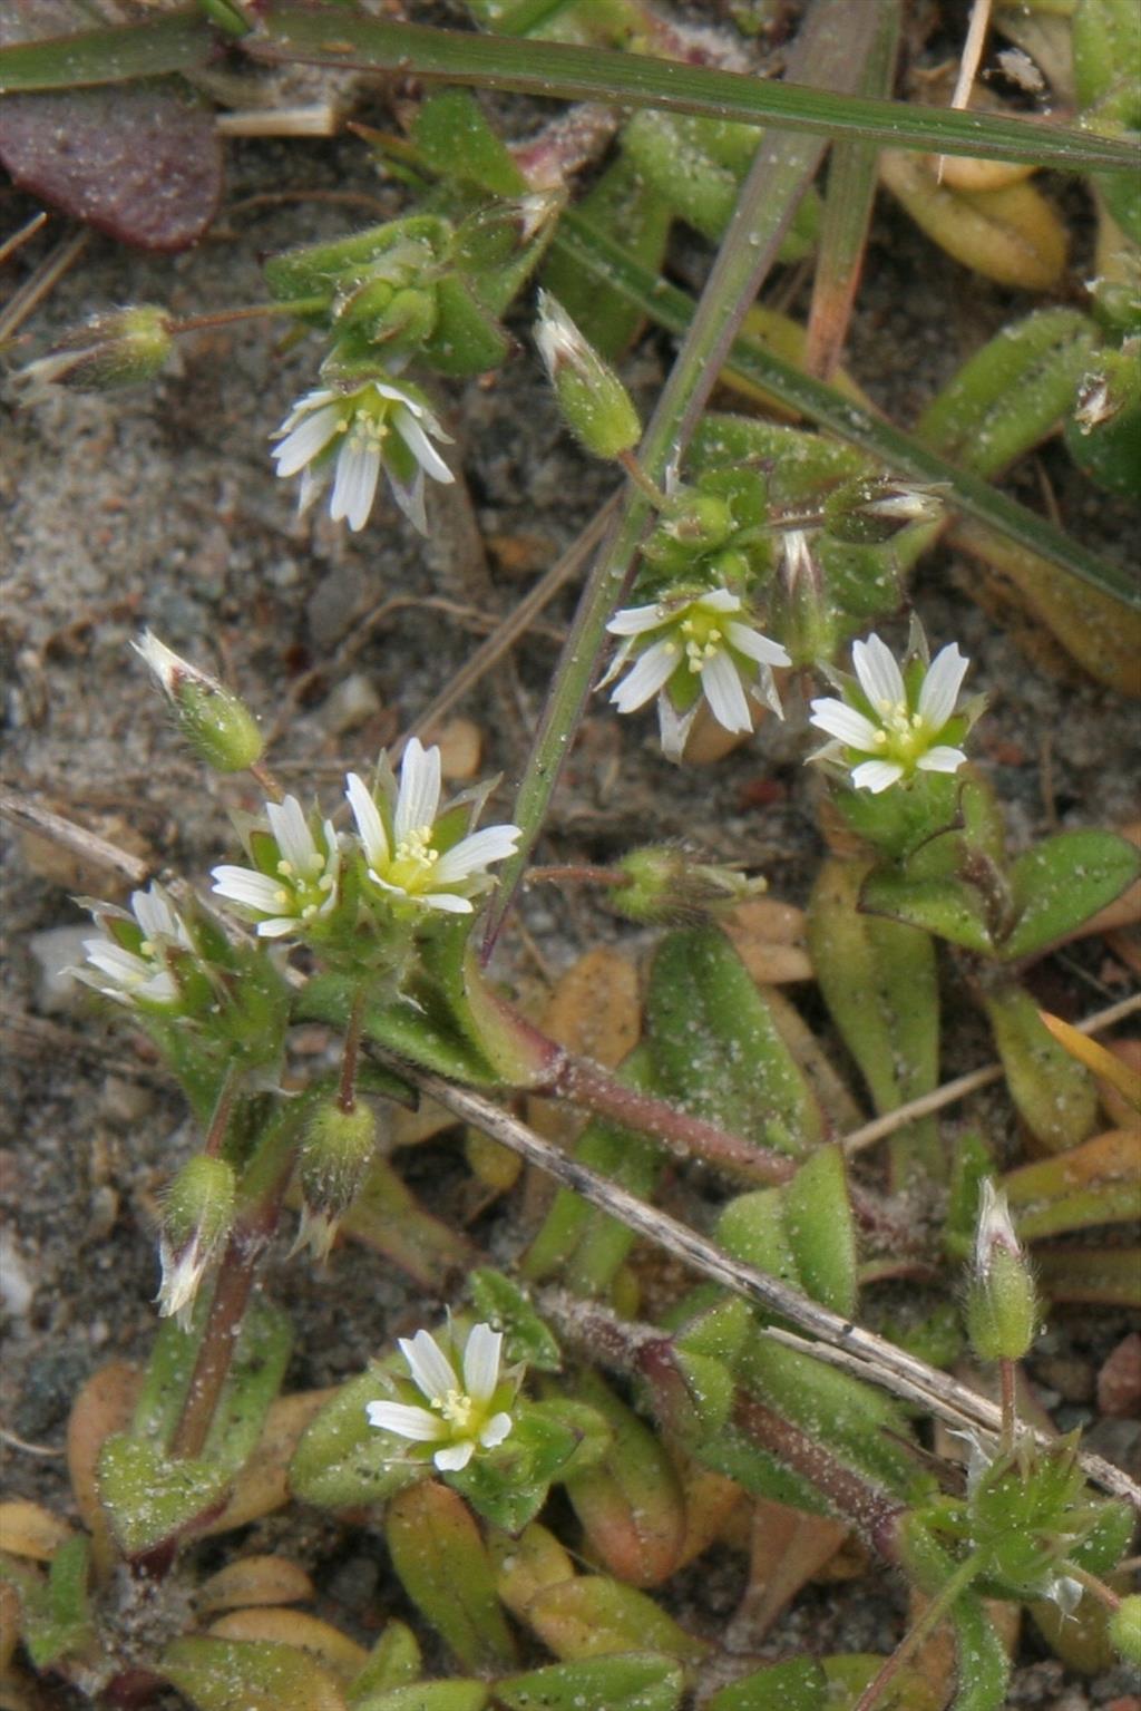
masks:
<svg viewBox="0 0 1141 1711"><path fill-rule="evenodd" d="M0 94L38 89L79 89L123 84L204 65L214 46L197 10L168 12L144 24L86 29L0 48Z"/></svg>

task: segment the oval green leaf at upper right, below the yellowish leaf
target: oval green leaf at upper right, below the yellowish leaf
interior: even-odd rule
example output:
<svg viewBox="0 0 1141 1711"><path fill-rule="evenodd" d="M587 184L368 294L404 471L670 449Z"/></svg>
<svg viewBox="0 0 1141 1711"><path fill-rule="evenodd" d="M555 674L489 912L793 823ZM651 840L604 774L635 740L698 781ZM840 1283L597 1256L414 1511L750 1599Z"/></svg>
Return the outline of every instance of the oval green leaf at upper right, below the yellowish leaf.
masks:
<svg viewBox="0 0 1141 1711"><path fill-rule="evenodd" d="M1073 409L1097 329L1076 310L1002 327L927 406L917 435L977 476L996 476Z"/></svg>

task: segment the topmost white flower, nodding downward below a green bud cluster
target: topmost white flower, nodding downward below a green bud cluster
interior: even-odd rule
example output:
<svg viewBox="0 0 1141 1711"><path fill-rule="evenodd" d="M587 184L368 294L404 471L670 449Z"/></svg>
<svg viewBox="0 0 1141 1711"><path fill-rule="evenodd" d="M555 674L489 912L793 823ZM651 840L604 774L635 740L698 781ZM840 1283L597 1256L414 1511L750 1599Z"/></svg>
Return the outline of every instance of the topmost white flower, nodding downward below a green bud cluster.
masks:
<svg viewBox="0 0 1141 1711"><path fill-rule="evenodd" d="M299 510L318 496L332 472L328 515L363 529L376 498L380 471L392 496L414 529L428 534L424 476L450 483L455 476L431 438L445 440L426 400L414 387L393 380L366 380L340 390L306 392L274 435L279 476L301 476Z"/></svg>

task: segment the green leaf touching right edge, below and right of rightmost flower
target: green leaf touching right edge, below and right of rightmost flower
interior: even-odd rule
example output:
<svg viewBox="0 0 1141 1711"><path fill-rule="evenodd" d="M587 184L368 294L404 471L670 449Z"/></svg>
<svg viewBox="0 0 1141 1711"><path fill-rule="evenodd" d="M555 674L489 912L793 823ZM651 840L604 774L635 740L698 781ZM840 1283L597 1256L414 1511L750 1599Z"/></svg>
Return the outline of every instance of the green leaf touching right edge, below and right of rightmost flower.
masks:
<svg viewBox="0 0 1141 1711"><path fill-rule="evenodd" d="M1004 962L1035 956L1069 938L1141 874L1141 850L1115 832L1059 832L1011 867L1014 927Z"/></svg>

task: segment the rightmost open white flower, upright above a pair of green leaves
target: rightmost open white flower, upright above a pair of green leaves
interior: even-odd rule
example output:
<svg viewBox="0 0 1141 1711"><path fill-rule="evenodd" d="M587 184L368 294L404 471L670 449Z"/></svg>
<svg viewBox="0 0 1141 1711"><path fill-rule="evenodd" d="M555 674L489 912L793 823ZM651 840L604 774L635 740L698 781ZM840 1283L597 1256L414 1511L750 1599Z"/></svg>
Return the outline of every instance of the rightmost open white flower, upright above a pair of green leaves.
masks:
<svg viewBox="0 0 1141 1711"><path fill-rule="evenodd" d="M809 717L843 749L857 790L878 796L915 772L958 772L965 765L961 748L939 741L965 734L956 703L970 660L956 642L936 654L925 671L917 659L907 671L908 681L876 635L854 645L852 664L857 676L848 691L852 700L813 702ZM830 751L833 744L819 753Z"/></svg>

